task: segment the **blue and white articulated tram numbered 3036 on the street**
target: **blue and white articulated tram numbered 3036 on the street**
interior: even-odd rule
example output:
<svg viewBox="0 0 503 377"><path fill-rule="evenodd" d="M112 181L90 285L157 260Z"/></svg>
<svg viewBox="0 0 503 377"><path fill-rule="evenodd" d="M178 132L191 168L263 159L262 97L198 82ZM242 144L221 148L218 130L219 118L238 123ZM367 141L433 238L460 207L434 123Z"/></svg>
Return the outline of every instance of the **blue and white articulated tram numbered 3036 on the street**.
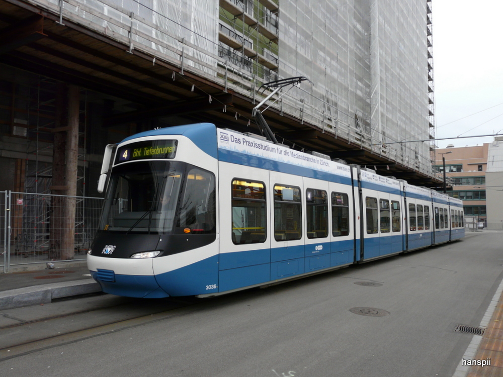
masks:
<svg viewBox="0 0 503 377"><path fill-rule="evenodd" d="M109 146L99 190L111 158ZM108 180L88 266L104 292L144 298L209 297L447 242L459 205L209 123L126 138Z"/></svg>

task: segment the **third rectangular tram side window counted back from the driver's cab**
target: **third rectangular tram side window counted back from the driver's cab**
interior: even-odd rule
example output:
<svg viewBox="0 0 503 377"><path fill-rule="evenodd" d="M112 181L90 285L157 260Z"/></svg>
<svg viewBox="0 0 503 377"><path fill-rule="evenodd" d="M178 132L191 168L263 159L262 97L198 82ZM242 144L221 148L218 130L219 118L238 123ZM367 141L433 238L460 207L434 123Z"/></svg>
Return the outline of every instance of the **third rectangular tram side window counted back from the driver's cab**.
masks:
<svg viewBox="0 0 503 377"><path fill-rule="evenodd" d="M306 190L307 238L328 236L328 198L326 191Z"/></svg>

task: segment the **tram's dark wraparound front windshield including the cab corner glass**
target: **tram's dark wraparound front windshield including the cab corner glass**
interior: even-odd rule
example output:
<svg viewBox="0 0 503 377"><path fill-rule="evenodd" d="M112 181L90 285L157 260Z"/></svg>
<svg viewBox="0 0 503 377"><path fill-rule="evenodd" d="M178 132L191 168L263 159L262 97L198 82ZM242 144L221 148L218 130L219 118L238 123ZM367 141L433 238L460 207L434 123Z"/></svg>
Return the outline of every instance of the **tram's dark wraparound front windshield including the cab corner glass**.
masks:
<svg viewBox="0 0 503 377"><path fill-rule="evenodd" d="M215 178L178 161L138 161L115 166L101 231L166 234L174 227L214 232Z"/></svg>

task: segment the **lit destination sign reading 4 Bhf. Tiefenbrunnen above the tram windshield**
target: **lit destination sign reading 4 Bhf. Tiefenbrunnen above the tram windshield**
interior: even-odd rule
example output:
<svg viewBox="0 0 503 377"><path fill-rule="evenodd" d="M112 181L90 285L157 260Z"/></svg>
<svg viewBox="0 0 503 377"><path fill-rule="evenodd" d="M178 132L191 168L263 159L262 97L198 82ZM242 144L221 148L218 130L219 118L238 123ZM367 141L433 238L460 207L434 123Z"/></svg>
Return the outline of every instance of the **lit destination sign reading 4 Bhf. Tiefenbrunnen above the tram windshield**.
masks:
<svg viewBox="0 0 503 377"><path fill-rule="evenodd" d="M115 163L134 160L175 158L178 140L148 140L119 148Z"/></svg>

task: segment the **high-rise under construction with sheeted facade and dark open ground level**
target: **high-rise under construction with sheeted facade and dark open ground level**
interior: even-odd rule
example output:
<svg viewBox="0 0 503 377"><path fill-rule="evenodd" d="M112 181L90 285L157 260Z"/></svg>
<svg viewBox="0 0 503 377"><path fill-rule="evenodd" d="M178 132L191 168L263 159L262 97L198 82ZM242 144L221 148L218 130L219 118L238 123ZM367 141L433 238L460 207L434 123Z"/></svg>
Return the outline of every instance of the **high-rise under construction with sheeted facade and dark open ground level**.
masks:
<svg viewBox="0 0 503 377"><path fill-rule="evenodd" d="M262 85L294 76L308 81L261 109L280 143L441 186L431 0L0 0L0 36L3 214L27 194L97 197L105 146L136 132L204 121L260 134ZM40 242L58 227L26 198L10 221L32 250L26 229Z"/></svg>

